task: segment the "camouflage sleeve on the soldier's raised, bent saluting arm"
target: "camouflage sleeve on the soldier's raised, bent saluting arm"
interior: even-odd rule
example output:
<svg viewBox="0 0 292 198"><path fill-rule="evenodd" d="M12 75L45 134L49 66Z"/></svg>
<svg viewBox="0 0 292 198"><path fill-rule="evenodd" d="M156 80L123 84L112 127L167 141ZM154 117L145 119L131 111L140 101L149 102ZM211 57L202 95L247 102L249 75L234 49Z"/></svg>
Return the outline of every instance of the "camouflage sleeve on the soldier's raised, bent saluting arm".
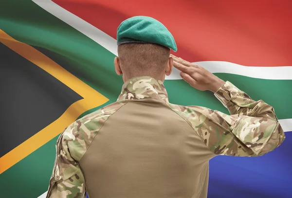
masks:
<svg viewBox="0 0 292 198"><path fill-rule="evenodd" d="M202 107L189 107L189 122L216 155L258 156L278 147L285 139L274 108L226 82L216 97L231 115ZM193 114L193 116L192 116Z"/></svg>

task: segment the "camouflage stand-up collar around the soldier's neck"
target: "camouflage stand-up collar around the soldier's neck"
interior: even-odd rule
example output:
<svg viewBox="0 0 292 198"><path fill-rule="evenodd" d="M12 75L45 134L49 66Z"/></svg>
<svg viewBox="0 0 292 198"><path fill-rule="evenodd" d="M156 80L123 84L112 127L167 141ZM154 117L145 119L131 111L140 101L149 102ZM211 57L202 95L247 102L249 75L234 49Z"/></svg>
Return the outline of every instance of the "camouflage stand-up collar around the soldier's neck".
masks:
<svg viewBox="0 0 292 198"><path fill-rule="evenodd" d="M161 80L152 76L138 76L128 79L123 85L119 100L138 100L143 98L160 98L167 100L167 92Z"/></svg>

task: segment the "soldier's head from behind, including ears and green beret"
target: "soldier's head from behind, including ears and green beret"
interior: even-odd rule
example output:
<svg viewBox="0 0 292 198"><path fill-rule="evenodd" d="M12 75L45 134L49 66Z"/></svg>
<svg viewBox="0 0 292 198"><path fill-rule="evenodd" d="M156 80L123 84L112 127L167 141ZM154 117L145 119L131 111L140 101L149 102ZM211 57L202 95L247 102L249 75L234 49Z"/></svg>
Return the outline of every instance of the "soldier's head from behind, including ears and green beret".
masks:
<svg viewBox="0 0 292 198"><path fill-rule="evenodd" d="M170 50L177 51L175 40L158 20L135 16L124 20L117 29L118 58L115 69L124 81L136 76L164 80L170 75Z"/></svg>

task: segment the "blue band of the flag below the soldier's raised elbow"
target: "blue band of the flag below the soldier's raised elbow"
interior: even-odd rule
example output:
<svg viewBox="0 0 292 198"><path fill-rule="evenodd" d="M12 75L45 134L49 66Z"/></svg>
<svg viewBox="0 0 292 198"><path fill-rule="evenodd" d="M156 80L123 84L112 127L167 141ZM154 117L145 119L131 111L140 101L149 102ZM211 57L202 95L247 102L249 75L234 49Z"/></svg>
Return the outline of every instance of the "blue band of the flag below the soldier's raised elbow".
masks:
<svg viewBox="0 0 292 198"><path fill-rule="evenodd" d="M285 135L264 156L212 159L208 198L292 198L292 133Z"/></svg>

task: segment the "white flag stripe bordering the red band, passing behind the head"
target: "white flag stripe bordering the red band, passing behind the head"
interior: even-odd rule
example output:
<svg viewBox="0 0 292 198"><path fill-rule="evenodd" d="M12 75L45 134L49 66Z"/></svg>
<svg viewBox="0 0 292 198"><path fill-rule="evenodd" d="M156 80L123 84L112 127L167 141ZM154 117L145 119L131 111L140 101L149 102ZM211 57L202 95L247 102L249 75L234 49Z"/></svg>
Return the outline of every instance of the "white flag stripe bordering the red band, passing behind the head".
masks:
<svg viewBox="0 0 292 198"><path fill-rule="evenodd" d="M33 0L37 5L54 15L55 17L66 22L82 34L90 37L109 50L112 54L117 55L116 40L107 35L103 31L97 29L85 20L73 15L71 12L57 5L51 0ZM253 78L261 79L278 79L278 80L292 80L292 67L246 67L235 63L224 61L202 61L196 62L210 72L213 73L232 73ZM182 79L179 71L174 68L170 76L166 76L167 80Z"/></svg>

